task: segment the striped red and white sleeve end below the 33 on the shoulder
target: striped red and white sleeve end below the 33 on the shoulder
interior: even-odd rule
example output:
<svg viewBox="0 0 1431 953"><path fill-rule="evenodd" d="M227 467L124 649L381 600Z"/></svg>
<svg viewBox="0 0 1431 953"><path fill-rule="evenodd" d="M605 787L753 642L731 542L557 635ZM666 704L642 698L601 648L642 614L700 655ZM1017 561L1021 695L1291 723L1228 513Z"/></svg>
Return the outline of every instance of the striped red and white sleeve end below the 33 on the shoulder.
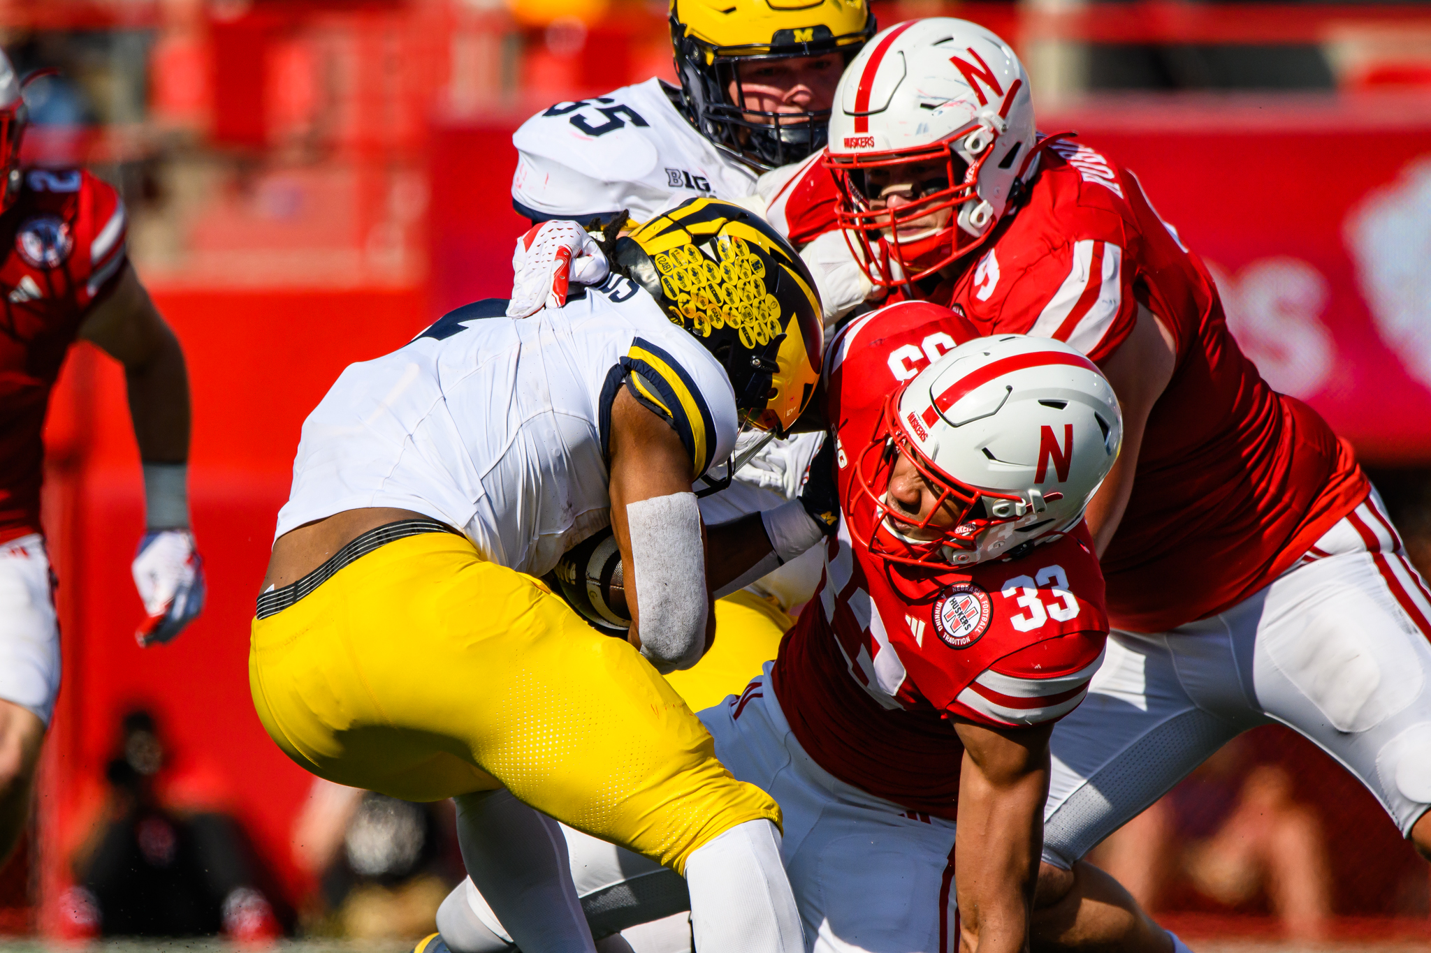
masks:
<svg viewBox="0 0 1431 953"><path fill-rule="evenodd" d="M1056 722L1088 694L1106 642L1103 632L1075 632L1026 646L985 669L949 710L983 724Z"/></svg>

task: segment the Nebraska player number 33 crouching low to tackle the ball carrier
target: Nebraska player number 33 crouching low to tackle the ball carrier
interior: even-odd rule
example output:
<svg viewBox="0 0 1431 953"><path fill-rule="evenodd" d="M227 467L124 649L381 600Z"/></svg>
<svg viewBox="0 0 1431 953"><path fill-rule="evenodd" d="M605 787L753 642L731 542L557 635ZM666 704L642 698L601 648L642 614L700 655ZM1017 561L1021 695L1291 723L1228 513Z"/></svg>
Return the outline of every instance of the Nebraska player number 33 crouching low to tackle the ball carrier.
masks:
<svg viewBox="0 0 1431 953"><path fill-rule="evenodd" d="M1025 949L1049 729L1103 656L1083 507L1112 389L1066 344L956 347L957 326L894 304L831 344L824 579L766 674L701 713L780 802L807 949Z"/></svg>

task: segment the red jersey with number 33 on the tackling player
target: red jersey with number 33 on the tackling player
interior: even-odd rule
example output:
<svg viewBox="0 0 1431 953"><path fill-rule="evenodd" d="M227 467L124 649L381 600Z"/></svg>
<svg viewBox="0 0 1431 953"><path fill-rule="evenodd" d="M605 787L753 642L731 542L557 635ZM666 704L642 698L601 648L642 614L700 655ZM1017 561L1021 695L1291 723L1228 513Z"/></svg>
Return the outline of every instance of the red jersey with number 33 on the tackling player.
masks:
<svg viewBox="0 0 1431 953"><path fill-rule="evenodd" d="M949 719L1017 727L1063 717L1083 700L1108 636L1082 523L1017 559L943 573L889 566L851 543L850 523L876 532L874 506L851 483L884 397L972 337L953 311L906 303L851 321L831 343L827 419L843 520L773 670L790 727L821 767L947 819L963 756Z"/></svg>

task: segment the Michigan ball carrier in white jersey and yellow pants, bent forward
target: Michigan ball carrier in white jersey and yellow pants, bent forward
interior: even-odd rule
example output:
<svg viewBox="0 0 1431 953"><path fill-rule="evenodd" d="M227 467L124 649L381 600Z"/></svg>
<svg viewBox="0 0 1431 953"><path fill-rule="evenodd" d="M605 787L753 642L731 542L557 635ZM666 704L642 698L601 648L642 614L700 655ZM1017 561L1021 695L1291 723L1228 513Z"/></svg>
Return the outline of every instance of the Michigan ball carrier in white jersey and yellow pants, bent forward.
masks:
<svg viewBox="0 0 1431 953"><path fill-rule="evenodd" d="M683 874L710 950L796 953L780 809L657 669L701 656L711 589L830 529L790 502L707 530L690 492L741 426L783 431L809 403L819 297L788 244L714 200L614 260L638 281L525 319L479 301L343 371L279 513L255 707L321 777L455 797L468 873L522 949L594 949L557 819ZM607 523L628 640L537 579Z"/></svg>

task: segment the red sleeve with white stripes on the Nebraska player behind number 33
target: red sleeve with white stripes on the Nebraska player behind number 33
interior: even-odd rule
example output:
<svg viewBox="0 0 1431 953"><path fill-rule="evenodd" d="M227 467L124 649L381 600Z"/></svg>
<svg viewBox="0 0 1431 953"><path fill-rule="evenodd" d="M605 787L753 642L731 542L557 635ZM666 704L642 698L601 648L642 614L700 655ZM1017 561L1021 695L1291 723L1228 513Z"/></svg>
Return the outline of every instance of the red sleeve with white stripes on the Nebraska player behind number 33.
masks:
<svg viewBox="0 0 1431 953"><path fill-rule="evenodd" d="M1055 337L1099 361L1132 333L1138 320L1126 249L1112 240L1078 239L1029 267L1005 299L1000 330Z"/></svg>

